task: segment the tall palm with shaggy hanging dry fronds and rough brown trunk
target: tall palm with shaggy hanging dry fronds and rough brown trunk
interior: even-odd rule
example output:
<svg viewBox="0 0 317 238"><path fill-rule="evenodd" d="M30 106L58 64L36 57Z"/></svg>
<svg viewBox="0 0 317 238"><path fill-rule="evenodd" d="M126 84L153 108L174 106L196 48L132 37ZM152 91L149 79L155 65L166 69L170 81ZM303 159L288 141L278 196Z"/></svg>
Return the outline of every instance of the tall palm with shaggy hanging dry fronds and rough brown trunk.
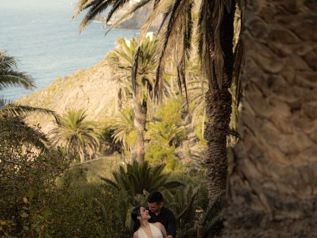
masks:
<svg viewBox="0 0 317 238"><path fill-rule="evenodd" d="M88 9L81 22L80 31L107 7L112 7L107 16L107 21L110 20L113 13L127 2L128 0L80 0L74 16ZM135 3L118 22L149 2L152 1L141 0ZM197 44L202 70L209 81L206 93L208 121L205 138L208 141L209 148L206 164L208 166L208 189L212 202L219 194L224 194L226 187L228 170L226 137L229 133L231 114L231 95L228 88L233 80L239 79L239 73L233 74L233 71L240 72L241 57L243 56L241 38L239 38L235 52L233 52L234 14L237 5L243 16L244 4L243 0L201 0L198 2L200 2L200 8ZM194 4L194 0L156 0L152 14L141 29L132 80L135 80L137 76L137 59L141 55L140 46L145 39L145 35L156 16L160 12L164 12L162 26L165 25L161 28L162 36L160 37L160 54L155 85L155 92L159 99L163 91L164 66L168 53L175 56L178 82L184 86L187 95L186 61L191 50ZM243 19L241 17L241 29L243 29ZM240 89L241 87L237 88Z"/></svg>

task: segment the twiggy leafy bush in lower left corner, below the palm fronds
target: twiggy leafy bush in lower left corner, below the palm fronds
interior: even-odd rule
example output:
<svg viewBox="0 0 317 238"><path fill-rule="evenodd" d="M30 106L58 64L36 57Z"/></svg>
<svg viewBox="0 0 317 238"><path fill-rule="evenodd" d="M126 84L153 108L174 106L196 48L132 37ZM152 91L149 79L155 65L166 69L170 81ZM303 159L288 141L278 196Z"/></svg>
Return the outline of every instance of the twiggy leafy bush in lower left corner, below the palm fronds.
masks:
<svg viewBox="0 0 317 238"><path fill-rule="evenodd" d="M27 151L0 132L0 234L1 237L53 237L52 207L65 187L55 180L68 166L57 151Z"/></svg>

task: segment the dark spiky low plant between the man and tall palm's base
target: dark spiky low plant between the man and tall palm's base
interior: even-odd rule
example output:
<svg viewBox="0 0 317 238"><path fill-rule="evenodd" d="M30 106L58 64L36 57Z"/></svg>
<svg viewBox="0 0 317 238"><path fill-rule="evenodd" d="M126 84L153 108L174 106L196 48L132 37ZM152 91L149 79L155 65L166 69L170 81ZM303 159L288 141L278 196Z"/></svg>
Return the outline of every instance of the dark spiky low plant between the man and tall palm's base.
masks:
<svg viewBox="0 0 317 238"><path fill-rule="evenodd" d="M217 199L208 199L206 184L187 184L173 193L165 191L164 205L175 214L178 238L213 238L223 226L223 214L216 209Z"/></svg>

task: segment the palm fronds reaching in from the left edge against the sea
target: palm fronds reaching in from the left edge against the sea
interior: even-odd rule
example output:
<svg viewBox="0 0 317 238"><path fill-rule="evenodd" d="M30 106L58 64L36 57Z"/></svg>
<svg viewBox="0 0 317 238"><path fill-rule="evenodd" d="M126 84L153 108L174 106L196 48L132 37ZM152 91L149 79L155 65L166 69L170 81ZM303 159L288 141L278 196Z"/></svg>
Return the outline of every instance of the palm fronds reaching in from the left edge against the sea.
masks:
<svg viewBox="0 0 317 238"><path fill-rule="evenodd" d="M0 52L0 91L8 87L21 86L25 89L35 87L34 81L25 72L17 71L18 60L8 56L5 51ZM0 130L8 131L14 135L14 141L22 142L29 147L35 146L42 152L47 152L51 143L39 127L31 127L25 123L25 117L31 114L47 114L55 118L59 123L57 115L47 109L23 106L16 103L8 103L0 98Z"/></svg>

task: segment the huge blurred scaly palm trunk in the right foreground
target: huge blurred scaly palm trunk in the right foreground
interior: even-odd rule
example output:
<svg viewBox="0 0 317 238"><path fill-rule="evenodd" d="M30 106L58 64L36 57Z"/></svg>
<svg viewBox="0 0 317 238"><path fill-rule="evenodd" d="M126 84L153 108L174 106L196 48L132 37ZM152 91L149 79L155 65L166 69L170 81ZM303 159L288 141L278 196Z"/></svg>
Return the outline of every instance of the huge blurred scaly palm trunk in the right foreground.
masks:
<svg viewBox="0 0 317 238"><path fill-rule="evenodd" d="M316 1L248 0L245 19L224 237L316 237Z"/></svg>

